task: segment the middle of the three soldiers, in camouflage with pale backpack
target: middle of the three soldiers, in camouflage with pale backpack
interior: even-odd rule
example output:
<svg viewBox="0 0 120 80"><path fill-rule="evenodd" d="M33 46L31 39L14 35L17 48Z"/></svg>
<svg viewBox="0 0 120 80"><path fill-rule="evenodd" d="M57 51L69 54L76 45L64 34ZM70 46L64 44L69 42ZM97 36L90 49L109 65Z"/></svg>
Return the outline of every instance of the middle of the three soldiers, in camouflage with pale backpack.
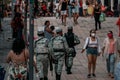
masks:
<svg viewBox="0 0 120 80"><path fill-rule="evenodd" d="M63 37L62 29L56 29L56 34L57 35L51 39L49 47L53 63L55 64L56 80L61 80L65 54L69 52L69 48L65 37Z"/></svg>

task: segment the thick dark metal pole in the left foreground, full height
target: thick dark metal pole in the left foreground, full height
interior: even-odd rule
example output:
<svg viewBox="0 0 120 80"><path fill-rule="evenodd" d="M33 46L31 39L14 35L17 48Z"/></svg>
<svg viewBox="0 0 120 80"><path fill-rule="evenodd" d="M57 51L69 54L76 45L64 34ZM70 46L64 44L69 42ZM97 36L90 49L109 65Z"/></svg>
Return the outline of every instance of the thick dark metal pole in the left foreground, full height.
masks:
<svg viewBox="0 0 120 80"><path fill-rule="evenodd" d="M29 58L29 80L33 80L33 56L34 56L34 47L33 47L33 36L34 36L34 0L30 0L30 27L29 27L29 52L30 52L30 58Z"/></svg>

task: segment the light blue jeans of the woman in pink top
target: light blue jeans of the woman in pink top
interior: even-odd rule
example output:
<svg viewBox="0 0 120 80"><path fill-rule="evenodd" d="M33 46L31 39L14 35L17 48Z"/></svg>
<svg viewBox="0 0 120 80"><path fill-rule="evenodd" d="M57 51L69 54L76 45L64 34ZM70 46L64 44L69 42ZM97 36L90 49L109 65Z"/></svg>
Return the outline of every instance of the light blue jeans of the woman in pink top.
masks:
<svg viewBox="0 0 120 80"><path fill-rule="evenodd" d="M106 60L107 62L107 71L108 73L114 73L114 66L115 66L115 55L114 54L109 54L108 59Z"/></svg>

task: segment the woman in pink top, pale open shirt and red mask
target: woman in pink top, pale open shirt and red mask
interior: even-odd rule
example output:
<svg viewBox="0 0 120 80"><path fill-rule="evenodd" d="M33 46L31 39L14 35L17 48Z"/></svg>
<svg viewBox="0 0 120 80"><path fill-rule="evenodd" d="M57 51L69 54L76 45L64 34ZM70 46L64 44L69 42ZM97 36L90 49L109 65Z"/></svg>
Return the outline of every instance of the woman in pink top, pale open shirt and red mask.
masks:
<svg viewBox="0 0 120 80"><path fill-rule="evenodd" d="M116 60L116 54L119 52L119 43L117 39L113 37L113 32L107 33L108 38L105 38L103 43L103 53L106 58L107 71L111 78L114 78L114 66Z"/></svg>

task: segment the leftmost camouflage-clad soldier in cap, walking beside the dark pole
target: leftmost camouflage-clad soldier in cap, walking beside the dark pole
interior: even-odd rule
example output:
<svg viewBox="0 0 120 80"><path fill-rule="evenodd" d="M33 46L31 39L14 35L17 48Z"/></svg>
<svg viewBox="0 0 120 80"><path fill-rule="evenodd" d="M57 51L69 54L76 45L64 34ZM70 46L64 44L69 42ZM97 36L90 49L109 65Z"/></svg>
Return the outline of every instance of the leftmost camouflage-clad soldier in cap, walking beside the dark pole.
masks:
<svg viewBox="0 0 120 80"><path fill-rule="evenodd" d="M49 50L48 39L44 37L44 31L38 31L39 38L35 41L35 55L38 75L40 80L48 80ZM43 46L42 46L43 45Z"/></svg>

